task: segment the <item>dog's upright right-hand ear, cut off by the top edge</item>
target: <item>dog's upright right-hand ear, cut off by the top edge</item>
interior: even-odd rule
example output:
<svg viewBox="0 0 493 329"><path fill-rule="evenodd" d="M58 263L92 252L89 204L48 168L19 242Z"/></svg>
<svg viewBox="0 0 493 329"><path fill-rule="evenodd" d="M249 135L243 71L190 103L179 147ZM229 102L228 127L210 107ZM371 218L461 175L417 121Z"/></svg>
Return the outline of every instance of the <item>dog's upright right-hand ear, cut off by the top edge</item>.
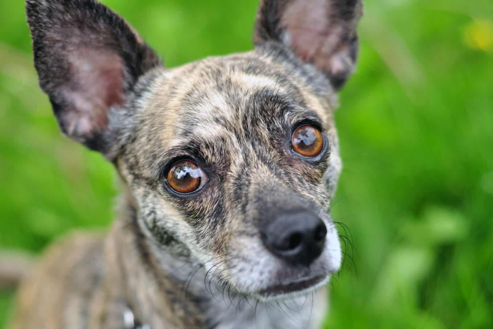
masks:
<svg viewBox="0 0 493 329"><path fill-rule="evenodd" d="M340 89L356 64L361 15L361 0L260 0L253 42L286 44Z"/></svg>

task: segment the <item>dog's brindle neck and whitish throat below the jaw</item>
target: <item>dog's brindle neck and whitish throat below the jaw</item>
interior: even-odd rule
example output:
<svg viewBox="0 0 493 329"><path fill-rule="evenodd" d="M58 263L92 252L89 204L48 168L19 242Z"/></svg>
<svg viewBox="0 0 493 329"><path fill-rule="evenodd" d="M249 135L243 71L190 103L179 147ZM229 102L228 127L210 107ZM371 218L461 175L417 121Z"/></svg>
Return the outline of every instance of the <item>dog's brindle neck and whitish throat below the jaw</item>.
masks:
<svg viewBox="0 0 493 329"><path fill-rule="evenodd" d="M206 279L202 264L183 252L185 246L161 246L146 236L132 197L122 210L106 241L106 290L119 301L122 317L130 309L151 329L317 328L315 315L324 312L315 308L325 307L325 290L267 303L240 296Z"/></svg>

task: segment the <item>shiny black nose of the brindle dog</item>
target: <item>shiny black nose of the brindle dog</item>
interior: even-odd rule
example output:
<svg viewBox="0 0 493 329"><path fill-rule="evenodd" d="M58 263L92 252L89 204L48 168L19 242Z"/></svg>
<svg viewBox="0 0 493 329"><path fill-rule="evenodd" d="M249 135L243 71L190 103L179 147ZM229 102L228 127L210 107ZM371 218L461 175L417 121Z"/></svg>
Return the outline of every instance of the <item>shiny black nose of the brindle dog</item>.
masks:
<svg viewBox="0 0 493 329"><path fill-rule="evenodd" d="M297 211L278 215L264 230L266 247L291 264L310 265L323 251L327 228L316 215Z"/></svg>

